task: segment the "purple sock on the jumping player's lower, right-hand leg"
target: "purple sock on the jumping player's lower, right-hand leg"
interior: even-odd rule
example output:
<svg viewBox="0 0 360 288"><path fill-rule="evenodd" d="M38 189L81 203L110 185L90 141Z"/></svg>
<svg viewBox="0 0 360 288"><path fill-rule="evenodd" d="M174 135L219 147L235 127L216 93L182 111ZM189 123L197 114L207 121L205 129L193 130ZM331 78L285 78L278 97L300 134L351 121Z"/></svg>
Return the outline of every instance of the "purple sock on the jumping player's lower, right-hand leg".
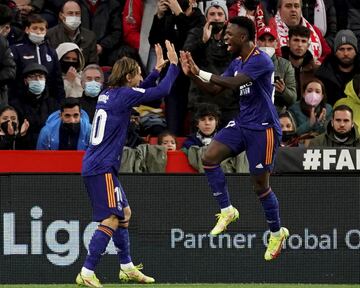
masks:
<svg viewBox="0 0 360 288"><path fill-rule="evenodd" d="M258 193L271 232L280 230L279 202L271 188Z"/></svg>

